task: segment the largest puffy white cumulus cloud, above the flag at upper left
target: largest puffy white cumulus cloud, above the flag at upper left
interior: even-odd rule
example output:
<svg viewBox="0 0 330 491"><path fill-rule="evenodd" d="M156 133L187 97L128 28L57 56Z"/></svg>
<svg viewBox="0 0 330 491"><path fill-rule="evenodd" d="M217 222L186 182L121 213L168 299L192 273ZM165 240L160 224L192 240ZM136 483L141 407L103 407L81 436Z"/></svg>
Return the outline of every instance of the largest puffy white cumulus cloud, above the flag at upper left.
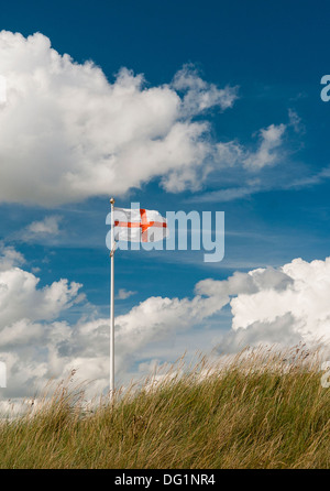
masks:
<svg viewBox="0 0 330 491"><path fill-rule="evenodd" d="M1 200L50 207L123 194L153 177L170 192L197 188L211 148L208 122L193 118L238 97L190 66L158 87L127 68L111 84L92 62L62 56L41 33L0 32L0 74ZM172 172L178 185L166 178Z"/></svg>

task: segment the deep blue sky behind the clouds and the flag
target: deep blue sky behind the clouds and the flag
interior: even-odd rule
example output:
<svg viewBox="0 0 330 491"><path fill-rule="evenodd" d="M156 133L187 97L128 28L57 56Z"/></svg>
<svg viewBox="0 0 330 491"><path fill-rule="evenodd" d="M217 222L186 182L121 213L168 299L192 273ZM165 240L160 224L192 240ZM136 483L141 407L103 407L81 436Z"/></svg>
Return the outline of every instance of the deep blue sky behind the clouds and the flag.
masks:
<svg viewBox="0 0 330 491"><path fill-rule="evenodd" d="M220 263L205 263L202 254L191 251L119 251L117 291L135 292L117 301L119 315L153 296L191 299L195 285L205 279L223 281L238 271L278 269L296 258L324 261L329 250L330 109L320 99L320 79L330 68L326 56L329 10L329 2L316 4L309 0L59 0L47 6L43 1L14 1L1 7L1 30L24 37L40 32L61 55L68 53L77 64L92 61L109 84L114 84L117 74L125 67L134 75L144 74L143 88L152 90L170 84L175 74L189 64L196 77L208 84L208 90L211 84L237 87L238 98L229 109L213 105L185 120L207 122L205 139L210 145L231 143L234 152L243 152L239 157L232 153L228 162L213 162L213 153L208 154L199 170L210 164L211 173L199 188L172 193L162 187L165 174L150 175L124 193L109 181L108 196L95 193L73 203L50 201L47 206L46 201L33 203L40 186L36 173L25 192L31 193L32 201L28 195L22 200L16 195L1 199L2 247L12 247L24 255L24 268L40 279L38 287L59 279L84 285L86 299L59 312L57 320L76 323L81 316L108 315L105 221L111 195L118 206L140 201L142 207L162 214L180 209L226 212L226 255ZM180 95L179 89L176 91ZM55 92L55 106L56 97ZM271 127L283 129L270 150L274 160L254 168L257 159L263 159L258 154L262 131ZM20 141L18 134L15 143L7 142L13 153ZM31 152L26 154L26 168L33 159ZM241 165L240 160L245 164ZM136 172L143 162L136 156L131 165ZM55 233L28 237L31 223L52 216L58 219ZM195 347L201 329L211 330L215 338L217 329L222 332L230 326L227 306L190 332L179 331L177 346L185 347L186 342L188 348ZM212 336L207 342L211 343ZM156 352L162 341L153 342ZM145 358L141 354L143 360L157 358L151 348L145 349L148 351ZM158 359L166 361L166 357L164 351ZM134 360L136 368L141 359Z"/></svg>

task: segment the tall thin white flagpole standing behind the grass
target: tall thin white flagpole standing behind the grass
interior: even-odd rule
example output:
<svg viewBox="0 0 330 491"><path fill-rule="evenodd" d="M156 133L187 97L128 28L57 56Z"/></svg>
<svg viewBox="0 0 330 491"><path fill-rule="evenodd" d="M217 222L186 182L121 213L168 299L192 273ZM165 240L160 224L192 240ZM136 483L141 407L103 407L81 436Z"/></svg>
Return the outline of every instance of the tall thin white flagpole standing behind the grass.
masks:
<svg viewBox="0 0 330 491"><path fill-rule="evenodd" d="M111 252L110 252L110 399L114 395L114 199L111 204Z"/></svg>

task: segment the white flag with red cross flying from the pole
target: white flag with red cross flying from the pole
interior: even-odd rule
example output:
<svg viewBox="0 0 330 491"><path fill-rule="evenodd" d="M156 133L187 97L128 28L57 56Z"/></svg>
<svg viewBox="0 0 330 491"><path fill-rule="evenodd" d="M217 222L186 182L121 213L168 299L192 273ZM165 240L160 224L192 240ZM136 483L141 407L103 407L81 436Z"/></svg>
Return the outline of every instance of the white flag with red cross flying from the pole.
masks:
<svg viewBox="0 0 330 491"><path fill-rule="evenodd" d="M156 242L168 237L166 218L144 208L114 208L114 240Z"/></svg>

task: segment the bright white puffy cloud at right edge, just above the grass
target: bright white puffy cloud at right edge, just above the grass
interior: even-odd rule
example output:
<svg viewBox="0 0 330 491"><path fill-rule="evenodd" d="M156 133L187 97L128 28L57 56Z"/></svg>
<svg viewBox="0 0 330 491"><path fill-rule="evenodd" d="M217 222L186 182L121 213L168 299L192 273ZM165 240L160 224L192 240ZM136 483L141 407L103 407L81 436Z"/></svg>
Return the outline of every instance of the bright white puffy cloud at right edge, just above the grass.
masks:
<svg viewBox="0 0 330 491"><path fill-rule="evenodd" d="M324 261L295 259L282 272L290 279L284 290L263 287L258 292L238 295L231 301L232 328L249 330L255 323L272 332L287 316L292 323L287 336L300 335L306 342L330 341L330 258ZM253 340L253 336L251 337ZM282 336L278 341L287 342Z"/></svg>

